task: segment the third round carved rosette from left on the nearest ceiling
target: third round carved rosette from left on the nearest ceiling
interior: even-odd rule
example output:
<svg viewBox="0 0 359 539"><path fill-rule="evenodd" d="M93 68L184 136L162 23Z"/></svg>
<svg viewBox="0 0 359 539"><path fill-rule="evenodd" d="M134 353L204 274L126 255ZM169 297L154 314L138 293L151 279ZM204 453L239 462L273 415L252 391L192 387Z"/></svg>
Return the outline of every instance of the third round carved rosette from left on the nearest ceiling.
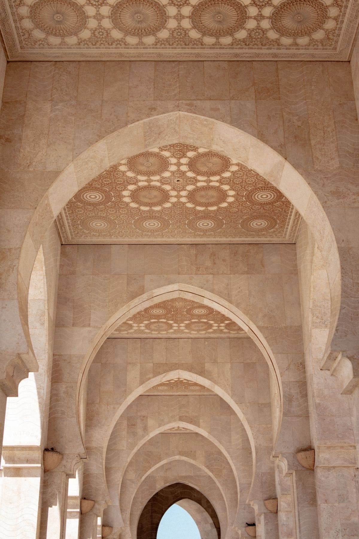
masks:
<svg viewBox="0 0 359 539"><path fill-rule="evenodd" d="M193 27L209 37L233 36L247 20L247 11L238 0L202 0L191 13Z"/></svg>

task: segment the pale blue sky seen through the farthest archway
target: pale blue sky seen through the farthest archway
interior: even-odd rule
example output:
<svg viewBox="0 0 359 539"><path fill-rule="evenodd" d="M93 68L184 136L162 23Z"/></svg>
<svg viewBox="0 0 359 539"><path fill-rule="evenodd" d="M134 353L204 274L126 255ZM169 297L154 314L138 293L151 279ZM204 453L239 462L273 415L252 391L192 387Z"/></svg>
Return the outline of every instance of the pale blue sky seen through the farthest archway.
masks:
<svg viewBox="0 0 359 539"><path fill-rule="evenodd" d="M201 539L201 536L192 516L174 503L159 523L157 539Z"/></svg>

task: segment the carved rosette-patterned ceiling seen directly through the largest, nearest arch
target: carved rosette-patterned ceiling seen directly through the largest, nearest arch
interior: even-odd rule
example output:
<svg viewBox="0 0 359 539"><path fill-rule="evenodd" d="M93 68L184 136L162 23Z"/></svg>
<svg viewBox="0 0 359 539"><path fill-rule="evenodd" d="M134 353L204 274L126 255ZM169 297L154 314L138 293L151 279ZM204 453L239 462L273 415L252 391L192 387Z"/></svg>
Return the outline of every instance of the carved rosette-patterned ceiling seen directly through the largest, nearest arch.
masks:
<svg viewBox="0 0 359 539"><path fill-rule="evenodd" d="M299 213L253 170L186 144L102 172L57 218L62 243L293 243Z"/></svg>

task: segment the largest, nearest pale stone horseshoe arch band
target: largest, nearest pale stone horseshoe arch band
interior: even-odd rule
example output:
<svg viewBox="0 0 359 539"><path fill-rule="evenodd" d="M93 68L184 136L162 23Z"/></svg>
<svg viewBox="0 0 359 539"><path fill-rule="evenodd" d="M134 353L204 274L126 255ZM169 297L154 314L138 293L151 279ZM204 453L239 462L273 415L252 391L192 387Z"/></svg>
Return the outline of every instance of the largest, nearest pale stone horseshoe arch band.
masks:
<svg viewBox="0 0 359 539"><path fill-rule="evenodd" d="M36 252L54 218L79 189L112 164L155 146L179 141L222 151L255 170L275 185L305 219L318 243L328 275L332 304L326 345L326 351L329 350L339 316L341 273L334 233L318 198L297 170L264 142L218 120L173 112L133 123L93 144L61 172L38 204L25 234L18 271L20 320L30 353L32 345L25 307L30 274Z"/></svg>

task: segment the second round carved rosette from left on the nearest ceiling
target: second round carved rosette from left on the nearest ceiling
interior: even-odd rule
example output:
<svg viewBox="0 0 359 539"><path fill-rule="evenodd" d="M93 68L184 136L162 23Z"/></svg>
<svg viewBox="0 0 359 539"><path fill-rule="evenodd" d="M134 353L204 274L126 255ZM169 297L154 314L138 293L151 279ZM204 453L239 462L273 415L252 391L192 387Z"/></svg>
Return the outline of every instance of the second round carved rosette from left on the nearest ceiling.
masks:
<svg viewBox="0 0 359 539"><path fill-rule="evenodd" d="M149 37L164 28L167 13L156 0L120 0L111 10L111 22L128 36Z"/></svg>

